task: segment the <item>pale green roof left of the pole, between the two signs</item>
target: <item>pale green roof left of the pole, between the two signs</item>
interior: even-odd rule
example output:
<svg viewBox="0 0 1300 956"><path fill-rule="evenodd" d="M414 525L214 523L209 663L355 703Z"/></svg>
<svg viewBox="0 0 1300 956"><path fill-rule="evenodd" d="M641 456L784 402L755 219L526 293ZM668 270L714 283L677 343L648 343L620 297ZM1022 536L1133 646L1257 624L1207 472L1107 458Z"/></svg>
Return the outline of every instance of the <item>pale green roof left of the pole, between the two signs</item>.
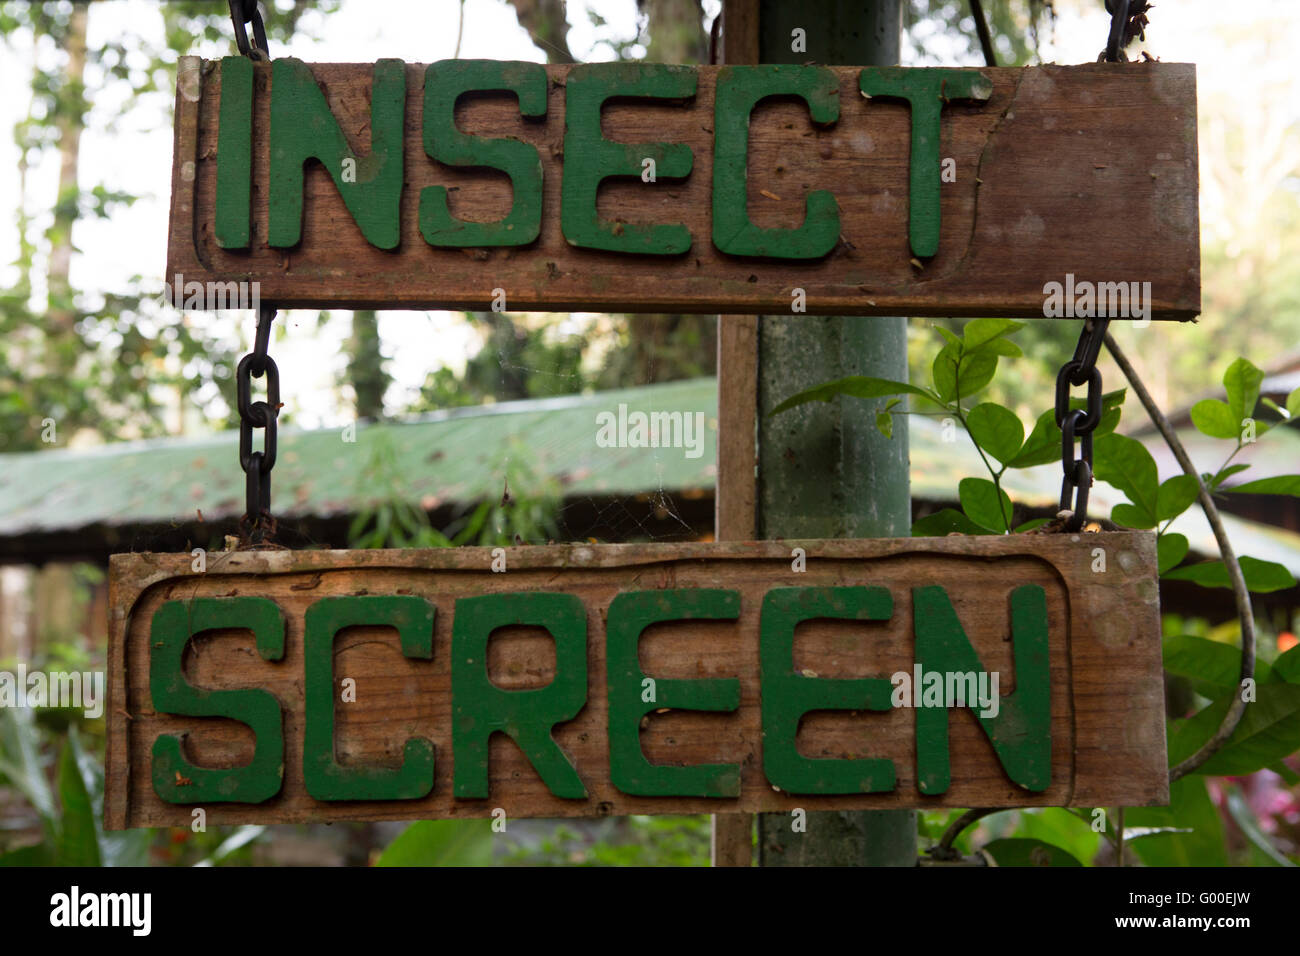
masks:
<svg viewBox="0 0 1300 956"><path fill-rule="evenodd" d="M685 449L598 447L597 414L703 412L702 454ZM350 514L382 498L367 466L387 446L404 496L442 502L500 496L503 459L528 455L566 496L711 488L716 473L714 378L434 412L402 423L280 433L272 481L277 515ZM255 440L260 444L260 437ZM239 436L118 442L0 455L0 536L243 514Z"/></svg>

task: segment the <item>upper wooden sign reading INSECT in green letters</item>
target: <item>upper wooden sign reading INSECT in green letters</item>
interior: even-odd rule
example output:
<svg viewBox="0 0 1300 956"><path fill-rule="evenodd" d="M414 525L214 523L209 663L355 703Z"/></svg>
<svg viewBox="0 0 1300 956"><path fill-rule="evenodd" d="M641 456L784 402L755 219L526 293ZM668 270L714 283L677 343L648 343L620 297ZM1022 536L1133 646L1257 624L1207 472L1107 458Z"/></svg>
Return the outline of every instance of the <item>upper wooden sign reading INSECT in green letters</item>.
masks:
<svg viewBox="0 0 1300 956"><path fill-rule="evenodd" d="M1201 307L1191 64L185 57L178 87L178 307Z"/></svg>

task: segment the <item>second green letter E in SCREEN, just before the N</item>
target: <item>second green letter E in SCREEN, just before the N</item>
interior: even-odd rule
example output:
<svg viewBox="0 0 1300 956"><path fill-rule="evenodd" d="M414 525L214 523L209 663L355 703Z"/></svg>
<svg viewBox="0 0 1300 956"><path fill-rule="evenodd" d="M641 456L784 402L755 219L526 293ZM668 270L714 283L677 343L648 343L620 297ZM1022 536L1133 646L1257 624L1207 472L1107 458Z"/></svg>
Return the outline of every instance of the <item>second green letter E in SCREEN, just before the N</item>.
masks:
<svg viewBox="0 0 1300 956"><path fill-rule="evenodd" d="M774 588L759 619L763 683L763 771L788 793L878 793L894 788L893 761L810 760L794 745L810 710L889 710L883 678L805 678L794 672L794 628L802 620L888 620L885 588Z"/></svg>

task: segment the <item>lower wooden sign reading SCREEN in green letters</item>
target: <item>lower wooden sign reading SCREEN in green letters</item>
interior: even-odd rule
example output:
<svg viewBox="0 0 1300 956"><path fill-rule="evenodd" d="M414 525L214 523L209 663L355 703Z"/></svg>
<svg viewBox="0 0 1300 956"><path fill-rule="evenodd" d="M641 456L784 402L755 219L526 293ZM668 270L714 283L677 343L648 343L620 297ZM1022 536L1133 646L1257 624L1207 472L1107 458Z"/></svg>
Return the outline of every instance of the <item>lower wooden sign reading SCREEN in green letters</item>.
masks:
<svg viewBox="0 0 1300 956"><path fill-rule="evenodd" d="M1149 533L110 571L113 829L1169 799Z"/></svg>

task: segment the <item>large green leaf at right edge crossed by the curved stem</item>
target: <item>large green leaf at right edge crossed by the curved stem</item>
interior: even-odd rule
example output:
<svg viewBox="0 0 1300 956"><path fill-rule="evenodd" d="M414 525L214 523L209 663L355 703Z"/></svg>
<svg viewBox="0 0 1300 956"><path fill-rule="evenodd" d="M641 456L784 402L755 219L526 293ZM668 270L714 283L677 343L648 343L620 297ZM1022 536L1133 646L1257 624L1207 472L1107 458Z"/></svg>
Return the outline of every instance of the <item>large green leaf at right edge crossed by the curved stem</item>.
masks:
<svg viewBox="0 0 1300 956"><path fill-rule="evenodd" d="M1256 700L1247 705L1232 736L1195 773L1245 777L1300 750L1300 684L1257 682L1254 692ZM1238 693L1234 688L1175 724L1169 737L1170 765L1191 757L1210 739Z"/></svg>

